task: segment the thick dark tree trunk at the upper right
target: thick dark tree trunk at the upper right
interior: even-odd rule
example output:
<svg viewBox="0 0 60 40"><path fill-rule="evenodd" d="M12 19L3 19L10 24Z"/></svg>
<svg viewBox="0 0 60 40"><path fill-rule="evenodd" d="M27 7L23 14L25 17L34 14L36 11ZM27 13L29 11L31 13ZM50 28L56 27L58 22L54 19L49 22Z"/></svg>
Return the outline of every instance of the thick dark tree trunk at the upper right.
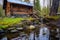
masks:
<svg viewBox="0 0 60 40"><path fill-rule="evenodd" d="M52 6L50 8L50 16L55 16L58 12L58 7L59 7L59 1L60 0L53 0Z"/></svg>

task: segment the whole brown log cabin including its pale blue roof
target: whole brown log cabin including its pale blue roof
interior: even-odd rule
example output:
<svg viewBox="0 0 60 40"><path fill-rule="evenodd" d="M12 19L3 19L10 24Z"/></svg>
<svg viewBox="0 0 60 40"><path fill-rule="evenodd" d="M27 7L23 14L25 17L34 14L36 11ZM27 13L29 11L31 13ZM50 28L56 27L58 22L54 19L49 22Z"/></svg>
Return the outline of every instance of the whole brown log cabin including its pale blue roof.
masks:
<svg viewBox="0 0 60 40"><path fill-rule="evenodd" d="M33 4L20 0L4 0L3 9L6 16L33 14Z"/></svg>

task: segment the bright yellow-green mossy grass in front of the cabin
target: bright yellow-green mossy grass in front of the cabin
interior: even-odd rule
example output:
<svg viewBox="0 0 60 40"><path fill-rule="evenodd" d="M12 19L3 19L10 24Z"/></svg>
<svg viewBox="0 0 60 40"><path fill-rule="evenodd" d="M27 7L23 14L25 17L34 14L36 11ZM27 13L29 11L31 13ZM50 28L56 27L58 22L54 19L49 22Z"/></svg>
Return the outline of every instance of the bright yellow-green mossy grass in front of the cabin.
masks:
<svg viewBox="0 0 60 40"><path fill-rule="evenodd" d="M1 18L0 19L0 29L5 29L8 28L10 25L16 25L20 22L22 22L22 20L33 20L33 18Z"/></svg>

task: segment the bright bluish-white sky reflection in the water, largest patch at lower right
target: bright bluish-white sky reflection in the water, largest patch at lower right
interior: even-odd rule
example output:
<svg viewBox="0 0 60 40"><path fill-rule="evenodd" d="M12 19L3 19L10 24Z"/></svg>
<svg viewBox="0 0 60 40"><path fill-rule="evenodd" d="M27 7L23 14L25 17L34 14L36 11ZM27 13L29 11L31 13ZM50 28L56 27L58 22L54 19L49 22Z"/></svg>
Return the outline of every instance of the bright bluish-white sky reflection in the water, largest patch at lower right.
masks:
<svg viewBox="0 0 60 40"><path fill-rule="evenodd" d="M47 27L40 28L39 40L49 40L49 29Z"/></svg>

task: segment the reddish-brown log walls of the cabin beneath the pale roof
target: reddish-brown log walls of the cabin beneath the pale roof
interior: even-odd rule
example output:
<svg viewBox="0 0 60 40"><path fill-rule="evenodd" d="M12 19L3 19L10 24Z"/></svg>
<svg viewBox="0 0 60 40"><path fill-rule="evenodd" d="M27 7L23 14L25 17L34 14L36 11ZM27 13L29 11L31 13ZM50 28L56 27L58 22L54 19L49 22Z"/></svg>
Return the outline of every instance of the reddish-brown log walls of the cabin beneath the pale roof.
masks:
<svg viewBox="0 0 60 40"><path fill-rule="evenodd" d="M33 7L7 2L7 6L6 6L7 16L10 16L11 14L32 14L32 12L33 12Z"/></svg>

